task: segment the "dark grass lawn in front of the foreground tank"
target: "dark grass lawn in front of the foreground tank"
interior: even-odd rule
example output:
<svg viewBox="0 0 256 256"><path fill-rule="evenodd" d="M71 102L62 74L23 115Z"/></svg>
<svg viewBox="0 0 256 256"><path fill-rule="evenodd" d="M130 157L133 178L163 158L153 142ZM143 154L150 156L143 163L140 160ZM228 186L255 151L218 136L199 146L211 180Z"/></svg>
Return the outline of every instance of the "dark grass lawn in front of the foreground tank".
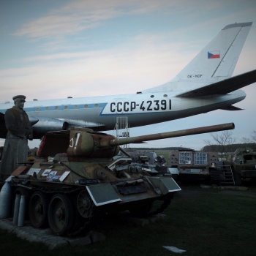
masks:
<svg viewBox="0 0 256 256"><path fill-rule="evenodd" d="M98 244L48 251L43 244L0 230L1 255L176 255L162 246L185 249L183 255L256 255L255 196L225 195L219 189L191 184L181 189L165 210L165 219L145 227L108 219L97 227L106 236ZM249 190L256 193L254 187Z"/></svg>

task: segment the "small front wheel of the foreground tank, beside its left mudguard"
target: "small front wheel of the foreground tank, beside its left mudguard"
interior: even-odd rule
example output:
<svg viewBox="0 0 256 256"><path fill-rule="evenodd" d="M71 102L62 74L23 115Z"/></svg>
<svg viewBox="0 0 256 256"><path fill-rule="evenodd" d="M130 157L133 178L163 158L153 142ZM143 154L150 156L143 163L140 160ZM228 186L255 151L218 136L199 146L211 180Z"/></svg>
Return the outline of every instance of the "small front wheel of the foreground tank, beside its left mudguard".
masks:
<svg viewBox="0 0 256 256"><path fill-rule="evenodd" d="M83 190L78 195L77 200L78 212L81 217L89 218L92 217L93 213L93 202L91 201L91 197L89 196L86 190Z"/></svg>

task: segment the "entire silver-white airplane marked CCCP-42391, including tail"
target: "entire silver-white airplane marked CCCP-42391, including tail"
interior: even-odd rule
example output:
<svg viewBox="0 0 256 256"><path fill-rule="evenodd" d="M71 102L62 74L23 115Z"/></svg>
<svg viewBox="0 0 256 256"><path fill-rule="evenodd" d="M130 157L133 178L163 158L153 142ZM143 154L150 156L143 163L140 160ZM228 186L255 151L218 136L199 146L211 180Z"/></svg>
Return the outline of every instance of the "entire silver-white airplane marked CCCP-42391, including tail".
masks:
<svg viewBox="0 0 256 256"><path fill-rule="evenodd" d="M225 26L173 80L161 86L135 94L26 102L34 138L71 127L113 130L117 117L127 117L129 127L140 127L218 109L241 110L233 104L246 97L241 88L256 82L256 69L231 75L251 26L252 22ZM4 113L12 106L0 104L0 138L6 137Z"/></svg>

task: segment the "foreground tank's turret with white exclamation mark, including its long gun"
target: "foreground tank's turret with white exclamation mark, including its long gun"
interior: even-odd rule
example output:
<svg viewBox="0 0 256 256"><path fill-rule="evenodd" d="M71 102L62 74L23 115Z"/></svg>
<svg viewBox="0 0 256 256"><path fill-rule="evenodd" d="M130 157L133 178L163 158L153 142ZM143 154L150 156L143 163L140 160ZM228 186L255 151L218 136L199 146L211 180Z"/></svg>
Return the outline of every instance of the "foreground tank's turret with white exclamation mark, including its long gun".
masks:
<svg viewBox="0 0 256 256"><path fill-rule="evenodd" d="M114 157L119 152L118 146L124 144L143 143L144 141L149 140L176 138L234 128L235 125L233 123L217 124L208 127L183 129L132 138L115 138L112 135L94 132L92 129L73 128L67 131L48 132L42 138L42 143L38 150L38 156L53 157L58 153L67 152L68 157Z"/></svg>

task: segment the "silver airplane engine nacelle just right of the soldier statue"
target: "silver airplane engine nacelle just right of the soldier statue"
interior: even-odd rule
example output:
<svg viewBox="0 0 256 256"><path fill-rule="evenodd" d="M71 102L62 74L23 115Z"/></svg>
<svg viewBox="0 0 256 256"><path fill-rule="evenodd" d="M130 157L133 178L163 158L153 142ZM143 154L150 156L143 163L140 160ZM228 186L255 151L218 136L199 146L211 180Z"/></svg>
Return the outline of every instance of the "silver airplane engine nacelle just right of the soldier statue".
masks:
<svg viewBox="0 0 256 256"><path fill-rule="evenodd" d="M29 117L30 119L31 117ZM40 139L46 132L53 132L59 130L66 130L69 128L69 124L66 121L62 121L55 118L38 118L37 124L33 125L33 137L34 139Z"/></svg>

